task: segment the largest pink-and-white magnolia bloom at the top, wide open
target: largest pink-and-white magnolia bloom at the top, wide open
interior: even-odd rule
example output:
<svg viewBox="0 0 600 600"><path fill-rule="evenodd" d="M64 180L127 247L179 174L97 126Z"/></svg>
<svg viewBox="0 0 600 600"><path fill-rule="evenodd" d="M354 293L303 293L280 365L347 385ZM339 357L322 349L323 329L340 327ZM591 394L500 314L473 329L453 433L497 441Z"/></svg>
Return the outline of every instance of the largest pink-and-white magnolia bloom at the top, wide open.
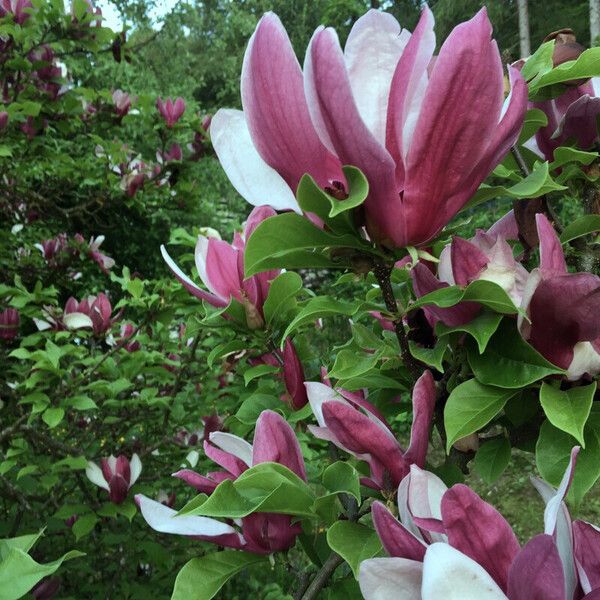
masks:
<svg viewBox="0 0 600 600"><path fill-rule="evenodd" d="M369 182L371 239L403 247L434 238L517 139L527 89L511 68L504 102L485 9L454 28L435 60L433 25L428 8L412 35L371 10L343 51L335 31L320 27L303 72L281 22L267 13L244 56L244 110L218 111L210 129L238 192L255 205L298 211L294 194L308 173L343 201L341 167L354 165Z"/></svg>

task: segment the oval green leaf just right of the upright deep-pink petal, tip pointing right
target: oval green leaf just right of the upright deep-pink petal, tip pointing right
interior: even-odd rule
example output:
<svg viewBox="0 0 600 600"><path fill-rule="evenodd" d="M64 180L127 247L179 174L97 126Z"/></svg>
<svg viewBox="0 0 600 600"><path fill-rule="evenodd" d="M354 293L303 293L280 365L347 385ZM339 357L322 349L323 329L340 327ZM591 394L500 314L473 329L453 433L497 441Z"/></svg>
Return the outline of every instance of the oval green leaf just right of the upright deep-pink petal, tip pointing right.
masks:
<svg viewBox="0 0 600 600"><path fill-rule="evenodd" d="M446 452L461 438L485 427L517 392L470 379L455 387L444 407Z"/></svg>

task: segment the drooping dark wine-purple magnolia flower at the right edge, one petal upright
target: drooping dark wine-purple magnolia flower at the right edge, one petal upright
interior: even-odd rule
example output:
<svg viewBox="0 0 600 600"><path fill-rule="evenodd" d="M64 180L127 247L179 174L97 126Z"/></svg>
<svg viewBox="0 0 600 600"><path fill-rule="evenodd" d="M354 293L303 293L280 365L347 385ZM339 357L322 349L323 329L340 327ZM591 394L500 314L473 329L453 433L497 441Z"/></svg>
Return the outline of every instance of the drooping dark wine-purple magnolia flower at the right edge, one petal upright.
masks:
<svg viewBox="0 0 600 600"><path fill-rule="evenodd" d="M525 286L521 335L569 380L600 373L600 277L569 273L562 246L543 214L536 215L540 266Z"/></svg>

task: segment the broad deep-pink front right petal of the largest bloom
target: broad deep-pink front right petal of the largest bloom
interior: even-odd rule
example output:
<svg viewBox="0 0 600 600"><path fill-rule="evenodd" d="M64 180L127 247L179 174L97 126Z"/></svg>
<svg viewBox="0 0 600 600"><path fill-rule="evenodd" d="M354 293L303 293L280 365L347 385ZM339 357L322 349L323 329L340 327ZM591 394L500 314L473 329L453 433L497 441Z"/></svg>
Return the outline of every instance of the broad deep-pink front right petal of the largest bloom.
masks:
<svg viewBox="0 0 600 600"><path fill-rule="evenodd" d="M454 28L435 62L405 164L409 244L433 238L487 175L474 181L472 171L502 109L502 65L490 36L482 9Z"/></svg>

